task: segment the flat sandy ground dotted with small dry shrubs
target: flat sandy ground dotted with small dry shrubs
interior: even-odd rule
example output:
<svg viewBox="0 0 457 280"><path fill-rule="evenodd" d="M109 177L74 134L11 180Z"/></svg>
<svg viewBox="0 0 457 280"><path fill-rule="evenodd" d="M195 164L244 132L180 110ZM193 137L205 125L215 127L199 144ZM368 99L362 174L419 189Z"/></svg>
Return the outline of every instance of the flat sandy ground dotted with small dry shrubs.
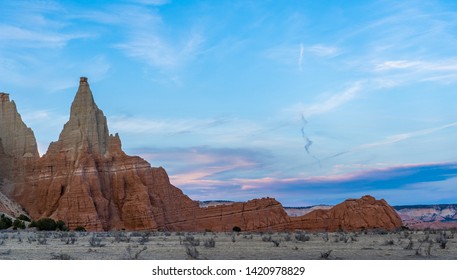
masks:
<svg viewBox="0 0 457 280"><path fill-rule="evenodd" d="M211 240L214 241L214 247L211 246ZM192 258L456 260L457 233L455 230L263 234L0 232L0 259L185 260Z"/></svg>

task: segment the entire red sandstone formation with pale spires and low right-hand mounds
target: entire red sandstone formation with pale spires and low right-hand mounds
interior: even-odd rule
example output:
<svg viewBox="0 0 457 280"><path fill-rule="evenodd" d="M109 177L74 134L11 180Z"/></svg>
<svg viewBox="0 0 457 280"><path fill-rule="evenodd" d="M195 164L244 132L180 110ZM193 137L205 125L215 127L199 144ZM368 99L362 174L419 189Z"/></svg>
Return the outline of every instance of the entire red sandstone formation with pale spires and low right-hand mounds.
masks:
<svg viewBox="0 0 457 280"><path fill-rule="evenodd" d="M364 196L329 210L289 217L274 198L200 208L151 167L122 151L82 77L70 119L39 156L35 136L7 94L0 94L0 191L33 218L63 220L70 229L244 231L360 230L402 226L384 200ZM5 196L4 196L5 197ZM2 200L2 201L5 201ZM11 209L0 202L0 209Z"/></svg>

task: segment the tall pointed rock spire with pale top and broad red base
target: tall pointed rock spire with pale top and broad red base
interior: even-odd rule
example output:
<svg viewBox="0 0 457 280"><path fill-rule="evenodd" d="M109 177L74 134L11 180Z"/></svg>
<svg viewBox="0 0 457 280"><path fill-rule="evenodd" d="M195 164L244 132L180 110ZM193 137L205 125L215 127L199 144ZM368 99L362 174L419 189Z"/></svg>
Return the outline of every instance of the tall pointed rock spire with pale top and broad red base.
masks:
<svg viewBox="0 0 457 280"><path fill-rule="evenodd" d="M86 78L57 142L35 164L14 197L37 219L61 219L88 230L158 229L195 207L162 168L128 156L109 135Z"/></svg>

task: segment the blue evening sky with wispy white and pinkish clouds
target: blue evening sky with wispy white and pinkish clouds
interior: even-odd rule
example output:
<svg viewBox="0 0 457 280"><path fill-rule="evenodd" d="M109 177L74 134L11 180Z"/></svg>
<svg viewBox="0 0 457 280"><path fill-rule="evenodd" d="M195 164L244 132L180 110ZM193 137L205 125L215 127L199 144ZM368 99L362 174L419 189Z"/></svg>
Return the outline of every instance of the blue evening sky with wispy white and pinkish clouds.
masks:
<svg viewBox="0 0 457 280"><path fill-rule="evenodd" d="M79 77L195 200L457 203L455 1L0 0L0 91L44 154Z"/></svg>

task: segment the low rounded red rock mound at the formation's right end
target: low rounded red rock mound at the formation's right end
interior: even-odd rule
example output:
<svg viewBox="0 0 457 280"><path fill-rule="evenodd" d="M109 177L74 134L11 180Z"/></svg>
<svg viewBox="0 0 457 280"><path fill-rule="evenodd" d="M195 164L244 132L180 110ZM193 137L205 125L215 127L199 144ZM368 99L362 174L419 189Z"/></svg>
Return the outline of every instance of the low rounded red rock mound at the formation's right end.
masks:
<svg viewBox="0 0 457 280"><path fill-rule="evenodd" d="M347 230L383 228L393 230L403 225L395 209L384 199L371 196L348 199L334 207L318 209L301 217L291 218L289 229Z"/></svg>

